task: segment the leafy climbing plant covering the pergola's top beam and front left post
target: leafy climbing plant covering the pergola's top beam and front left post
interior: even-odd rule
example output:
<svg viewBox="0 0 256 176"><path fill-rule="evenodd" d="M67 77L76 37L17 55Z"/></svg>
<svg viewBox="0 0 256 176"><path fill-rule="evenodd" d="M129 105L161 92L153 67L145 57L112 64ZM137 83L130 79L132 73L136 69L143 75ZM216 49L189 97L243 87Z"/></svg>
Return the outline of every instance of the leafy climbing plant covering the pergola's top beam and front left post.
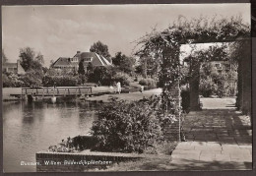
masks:
<svg viewBox="0 0 256 176"><path fill-rule="evenodd" d="M160 62L159 79L163 82L162 101L168 112L180 113L179 82L180 46L190 43L210 43L240 41L250 38L250 27L244 25L241 17L199 18L190 21L179 19L168 29L157 31L154 29L137 42L141 46L136 55L154 55ZM176 89L177 91L173 91Z"/></svg>

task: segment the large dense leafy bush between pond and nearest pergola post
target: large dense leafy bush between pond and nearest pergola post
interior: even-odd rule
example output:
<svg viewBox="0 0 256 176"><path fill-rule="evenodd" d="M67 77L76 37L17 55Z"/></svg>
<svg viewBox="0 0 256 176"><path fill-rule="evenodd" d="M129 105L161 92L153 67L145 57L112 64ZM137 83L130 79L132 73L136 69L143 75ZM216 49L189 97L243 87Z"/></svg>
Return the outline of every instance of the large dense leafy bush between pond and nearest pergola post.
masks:
<svg viewBox="0 0 256 176"><path fill-rule="evenodd" d="M113 102L98 112L93 124L96 150L145 152L163 142L163 124L174 120L174 115L164 114L160 96Z"/></svg>

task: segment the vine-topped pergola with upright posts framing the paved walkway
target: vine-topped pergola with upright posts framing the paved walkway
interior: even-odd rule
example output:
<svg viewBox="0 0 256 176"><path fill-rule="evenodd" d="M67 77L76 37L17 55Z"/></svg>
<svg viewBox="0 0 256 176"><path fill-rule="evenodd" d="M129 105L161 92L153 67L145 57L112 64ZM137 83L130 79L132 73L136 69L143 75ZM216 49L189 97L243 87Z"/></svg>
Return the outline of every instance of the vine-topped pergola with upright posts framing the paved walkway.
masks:
<svg viewBox="0 0 256 176"><path fill-rule="evenodd" d="M250 27L241 18L193 19L179 21L168 29L154 30L140 39L137 55L154 53L160 62L160 80L163 81L162 101L169 113L180 117L180 46L189 43L231 42L240 43L238 50L237 107L244 113L251 112L251 40ZM195 62L198 62L195 60ZM199 64L193 64L200 67ZM198 70L199 68L195 68ZM193 75L193 73L192 73ZM190 108L199 110L199 77L190 81ZM179 138L179 137L178 137Z"/></svg>

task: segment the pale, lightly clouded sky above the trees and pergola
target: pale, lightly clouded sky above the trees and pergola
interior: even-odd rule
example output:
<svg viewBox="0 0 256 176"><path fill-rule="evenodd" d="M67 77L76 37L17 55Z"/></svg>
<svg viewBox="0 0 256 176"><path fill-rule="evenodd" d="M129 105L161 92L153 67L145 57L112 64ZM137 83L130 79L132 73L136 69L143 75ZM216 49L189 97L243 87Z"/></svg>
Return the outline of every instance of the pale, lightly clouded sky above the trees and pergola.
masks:
<svg viewBox="0 0 256 176"><path fill-rule="evenodd" d="M135 40L155 27L167 29L180 15L241 15L250 24L250 4L2 6L2 47L9 62L19 59L21 48L32 47L45 66L87 52L98 40L111 56L118 51L130 56Z"/></svg>

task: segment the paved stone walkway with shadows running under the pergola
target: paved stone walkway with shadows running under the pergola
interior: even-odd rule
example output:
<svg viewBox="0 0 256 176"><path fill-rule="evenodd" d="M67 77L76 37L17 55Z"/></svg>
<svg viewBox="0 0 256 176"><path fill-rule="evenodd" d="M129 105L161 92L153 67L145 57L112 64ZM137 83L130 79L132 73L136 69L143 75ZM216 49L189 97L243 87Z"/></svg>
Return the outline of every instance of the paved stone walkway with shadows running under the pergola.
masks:
<svg viewBox="0 0 256 176"><path fill-rule="evenodd" d="M190 112L185 117L183 127L187 142L178 144L173 150L170 169L251 169L250 118L235 111L231 99L201 101L205 109Z"/></svg>

